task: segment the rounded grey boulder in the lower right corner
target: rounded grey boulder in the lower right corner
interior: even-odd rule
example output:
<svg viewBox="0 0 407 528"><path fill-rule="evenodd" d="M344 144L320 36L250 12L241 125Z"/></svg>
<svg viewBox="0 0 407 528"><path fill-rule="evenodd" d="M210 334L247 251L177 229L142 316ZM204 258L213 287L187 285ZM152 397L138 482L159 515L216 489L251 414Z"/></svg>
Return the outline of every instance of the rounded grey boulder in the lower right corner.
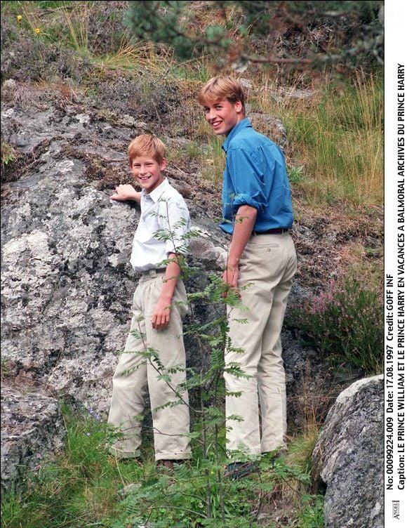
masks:
<svg viewBox="0 0 407 528"><path fill-rule="evenodd" d="M383 376L352 383L328 413L312 456L326 528L383 526L383 413Z"/></svg>

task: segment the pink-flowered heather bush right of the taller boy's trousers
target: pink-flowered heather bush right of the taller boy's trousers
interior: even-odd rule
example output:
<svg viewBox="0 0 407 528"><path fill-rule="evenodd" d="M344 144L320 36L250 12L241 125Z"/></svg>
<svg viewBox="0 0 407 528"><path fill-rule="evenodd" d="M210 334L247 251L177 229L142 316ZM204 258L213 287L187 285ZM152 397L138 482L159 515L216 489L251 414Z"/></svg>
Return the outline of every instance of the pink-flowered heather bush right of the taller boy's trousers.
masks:
<svg viewBox="0 0 407 528"><path fill-rule="evenodd" d="M365 374L382 371L382 305L375 291L352 277L332 280L287 315L323 357Z"/></svg>

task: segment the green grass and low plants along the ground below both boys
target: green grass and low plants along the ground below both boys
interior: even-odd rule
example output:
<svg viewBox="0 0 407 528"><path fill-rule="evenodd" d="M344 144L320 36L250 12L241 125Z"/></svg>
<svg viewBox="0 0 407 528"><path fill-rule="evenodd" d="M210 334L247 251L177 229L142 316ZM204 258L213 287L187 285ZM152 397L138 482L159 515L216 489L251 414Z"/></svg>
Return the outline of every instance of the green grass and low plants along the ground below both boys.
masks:
<svg viewBox="0 0 407 528"><path fill-rule="evenodd" d="M287 462L279 460L273 466L263 461L261 477L224 482L221 499L216 462L203 460L199 449L189 464L178 466L175 474L168 475L156 470L151 438L143 442L142 462L123 463L107 452L105 423L67 407L63 414L67 426L64 451L56 459L41 461L35 474L26 475L20 491L2 495L2 528L125 528L131 520L145 522L147 517L157 527L197 528L206 517L208 492L213 512L219 513L220 501L224 501L226 524L219 513L218 519L215 515L205 526L254 528L253 508L259 489L276 494L281 493L281 487L285 487L286 494L295 489L298 519L313 515L319 501L309 496L309 469L299 463L301 442L290 447L293 454L288 454ZM309 442L305 444L305 450L309 449ZM212 482L209 488L206 482ZM121 496L120 490L128 484L136 486L126 497ZM267 497L267 508L266 503ZM293 527L304 528L302 524Z"/></svg>

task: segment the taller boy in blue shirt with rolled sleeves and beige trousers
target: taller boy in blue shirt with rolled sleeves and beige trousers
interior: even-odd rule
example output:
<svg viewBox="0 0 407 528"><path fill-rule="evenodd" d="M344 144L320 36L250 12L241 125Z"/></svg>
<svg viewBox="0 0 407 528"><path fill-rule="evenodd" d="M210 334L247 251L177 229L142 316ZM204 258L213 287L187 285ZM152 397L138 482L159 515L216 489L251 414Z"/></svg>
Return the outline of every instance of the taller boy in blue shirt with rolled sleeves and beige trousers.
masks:
<svg viewBox="0 0 407 528"><path fill-rule="evenodd" d="M224 374L229 392L227 449L232 458L226 474L239 478L254 469L252 456L286 447L286 379L280 333L297 268L289 233L293 225L291 192L283 152L253 130L245 116L239 81L213 77L199 91L198 100L215 134L226 137L220 227L232 235L232 242L223 280L239 291L248 308L232 310L232 350L225 354L226 364L236 362L250 376ZM242 325L239 319L246 319L247 324ZM236 392L241 395L232 395ZM241 421L230 419L233 415Z"/></svg>

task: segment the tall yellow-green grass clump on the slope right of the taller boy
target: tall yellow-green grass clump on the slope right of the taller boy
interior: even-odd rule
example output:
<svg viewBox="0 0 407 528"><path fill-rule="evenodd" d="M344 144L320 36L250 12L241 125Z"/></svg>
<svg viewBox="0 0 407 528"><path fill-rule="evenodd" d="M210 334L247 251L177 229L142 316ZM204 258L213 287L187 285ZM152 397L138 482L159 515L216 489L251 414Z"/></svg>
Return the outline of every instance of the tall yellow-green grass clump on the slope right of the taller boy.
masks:
<svg viewBox="0 0 407 528"><path fill-rule="evenodd" d="M327 83L309 102L284 108L291 155L304 166L312 199L356 204L383 199L383 86L363 73L342 86Z"/></svg>

